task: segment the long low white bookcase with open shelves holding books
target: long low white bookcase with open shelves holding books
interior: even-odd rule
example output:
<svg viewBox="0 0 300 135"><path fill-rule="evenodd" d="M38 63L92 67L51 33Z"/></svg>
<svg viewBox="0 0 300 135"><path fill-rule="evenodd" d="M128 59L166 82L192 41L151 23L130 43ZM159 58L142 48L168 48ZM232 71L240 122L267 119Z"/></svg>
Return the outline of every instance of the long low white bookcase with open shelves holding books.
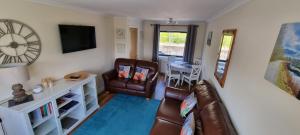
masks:
<svg viewBox="0 0 300 135"><path fill-rule="evenodd" d="M0 102L0 118L8 135L67 135L100 106L96 75L81 81L55 82L34 101L8 107Z"/></svg>

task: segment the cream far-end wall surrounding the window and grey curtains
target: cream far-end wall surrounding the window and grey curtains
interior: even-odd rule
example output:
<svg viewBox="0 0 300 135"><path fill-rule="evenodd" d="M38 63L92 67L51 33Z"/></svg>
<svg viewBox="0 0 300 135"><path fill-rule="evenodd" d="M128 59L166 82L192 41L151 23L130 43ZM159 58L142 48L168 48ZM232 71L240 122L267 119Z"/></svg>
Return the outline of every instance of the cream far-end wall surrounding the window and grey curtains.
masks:
<svg viewBox="0 0 300 135"><path fill-rule="evenodd" d="M145 60L152 60L152 50L153 50L153 27L151 24L160 23L161 21L143 21L143 49L144 49L144 56L143 59ZM204 43L205 31L206 31L206 23L205 22L184 22L183 24L196 24L199 25L198 33L197 33L197 41L195 45L195 53L194 58L200 58L202 55L202 48ZM187 30L184 27L173 27L174 29L178 29L181 31ZM170 27L162 27L162 30L171 30Z"/></svg>

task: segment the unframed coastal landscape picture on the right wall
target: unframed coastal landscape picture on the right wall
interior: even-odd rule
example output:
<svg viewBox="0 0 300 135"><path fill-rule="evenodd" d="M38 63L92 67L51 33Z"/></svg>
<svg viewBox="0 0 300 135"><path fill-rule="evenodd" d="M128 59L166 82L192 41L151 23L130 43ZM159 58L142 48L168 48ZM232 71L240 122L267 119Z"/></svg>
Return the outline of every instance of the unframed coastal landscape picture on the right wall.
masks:
<svg viewBox="0 0 300 135"><path fill-rule="evenodd" d="M300 99L300 23L281 26L265 79Z"/></svg>

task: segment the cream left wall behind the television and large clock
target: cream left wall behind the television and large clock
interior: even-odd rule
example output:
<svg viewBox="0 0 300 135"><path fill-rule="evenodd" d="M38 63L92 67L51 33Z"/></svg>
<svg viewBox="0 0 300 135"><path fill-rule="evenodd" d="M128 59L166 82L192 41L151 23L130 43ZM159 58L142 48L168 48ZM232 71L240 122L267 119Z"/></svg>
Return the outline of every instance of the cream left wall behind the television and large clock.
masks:
<svg viewBox="0 0 300 135"><path fill-rule="evenodd" d="M112 68L112 17L20 0L1 0L0 16L1 19L15 19L28 24L41 38L41 55L29 67L31 84L39 83L43 77L62 78L65 74L79 70L97 73L100 81L101 73ZM58 24L95 26L97 48L62 54ZM99 91L103 90L100 82ZM0 99L2 96L3 93Z"/></svg>

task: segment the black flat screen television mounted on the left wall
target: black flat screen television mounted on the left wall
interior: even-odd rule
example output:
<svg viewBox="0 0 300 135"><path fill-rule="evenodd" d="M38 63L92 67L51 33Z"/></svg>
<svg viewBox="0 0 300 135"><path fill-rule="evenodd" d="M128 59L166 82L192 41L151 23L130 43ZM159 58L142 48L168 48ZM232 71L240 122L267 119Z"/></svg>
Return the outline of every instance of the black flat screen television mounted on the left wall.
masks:
<svg viewBox="0 0 300 135"><path fill-rule="evenodd" d="M59 25L63 53L96 48L95 27Z"/></svg>

